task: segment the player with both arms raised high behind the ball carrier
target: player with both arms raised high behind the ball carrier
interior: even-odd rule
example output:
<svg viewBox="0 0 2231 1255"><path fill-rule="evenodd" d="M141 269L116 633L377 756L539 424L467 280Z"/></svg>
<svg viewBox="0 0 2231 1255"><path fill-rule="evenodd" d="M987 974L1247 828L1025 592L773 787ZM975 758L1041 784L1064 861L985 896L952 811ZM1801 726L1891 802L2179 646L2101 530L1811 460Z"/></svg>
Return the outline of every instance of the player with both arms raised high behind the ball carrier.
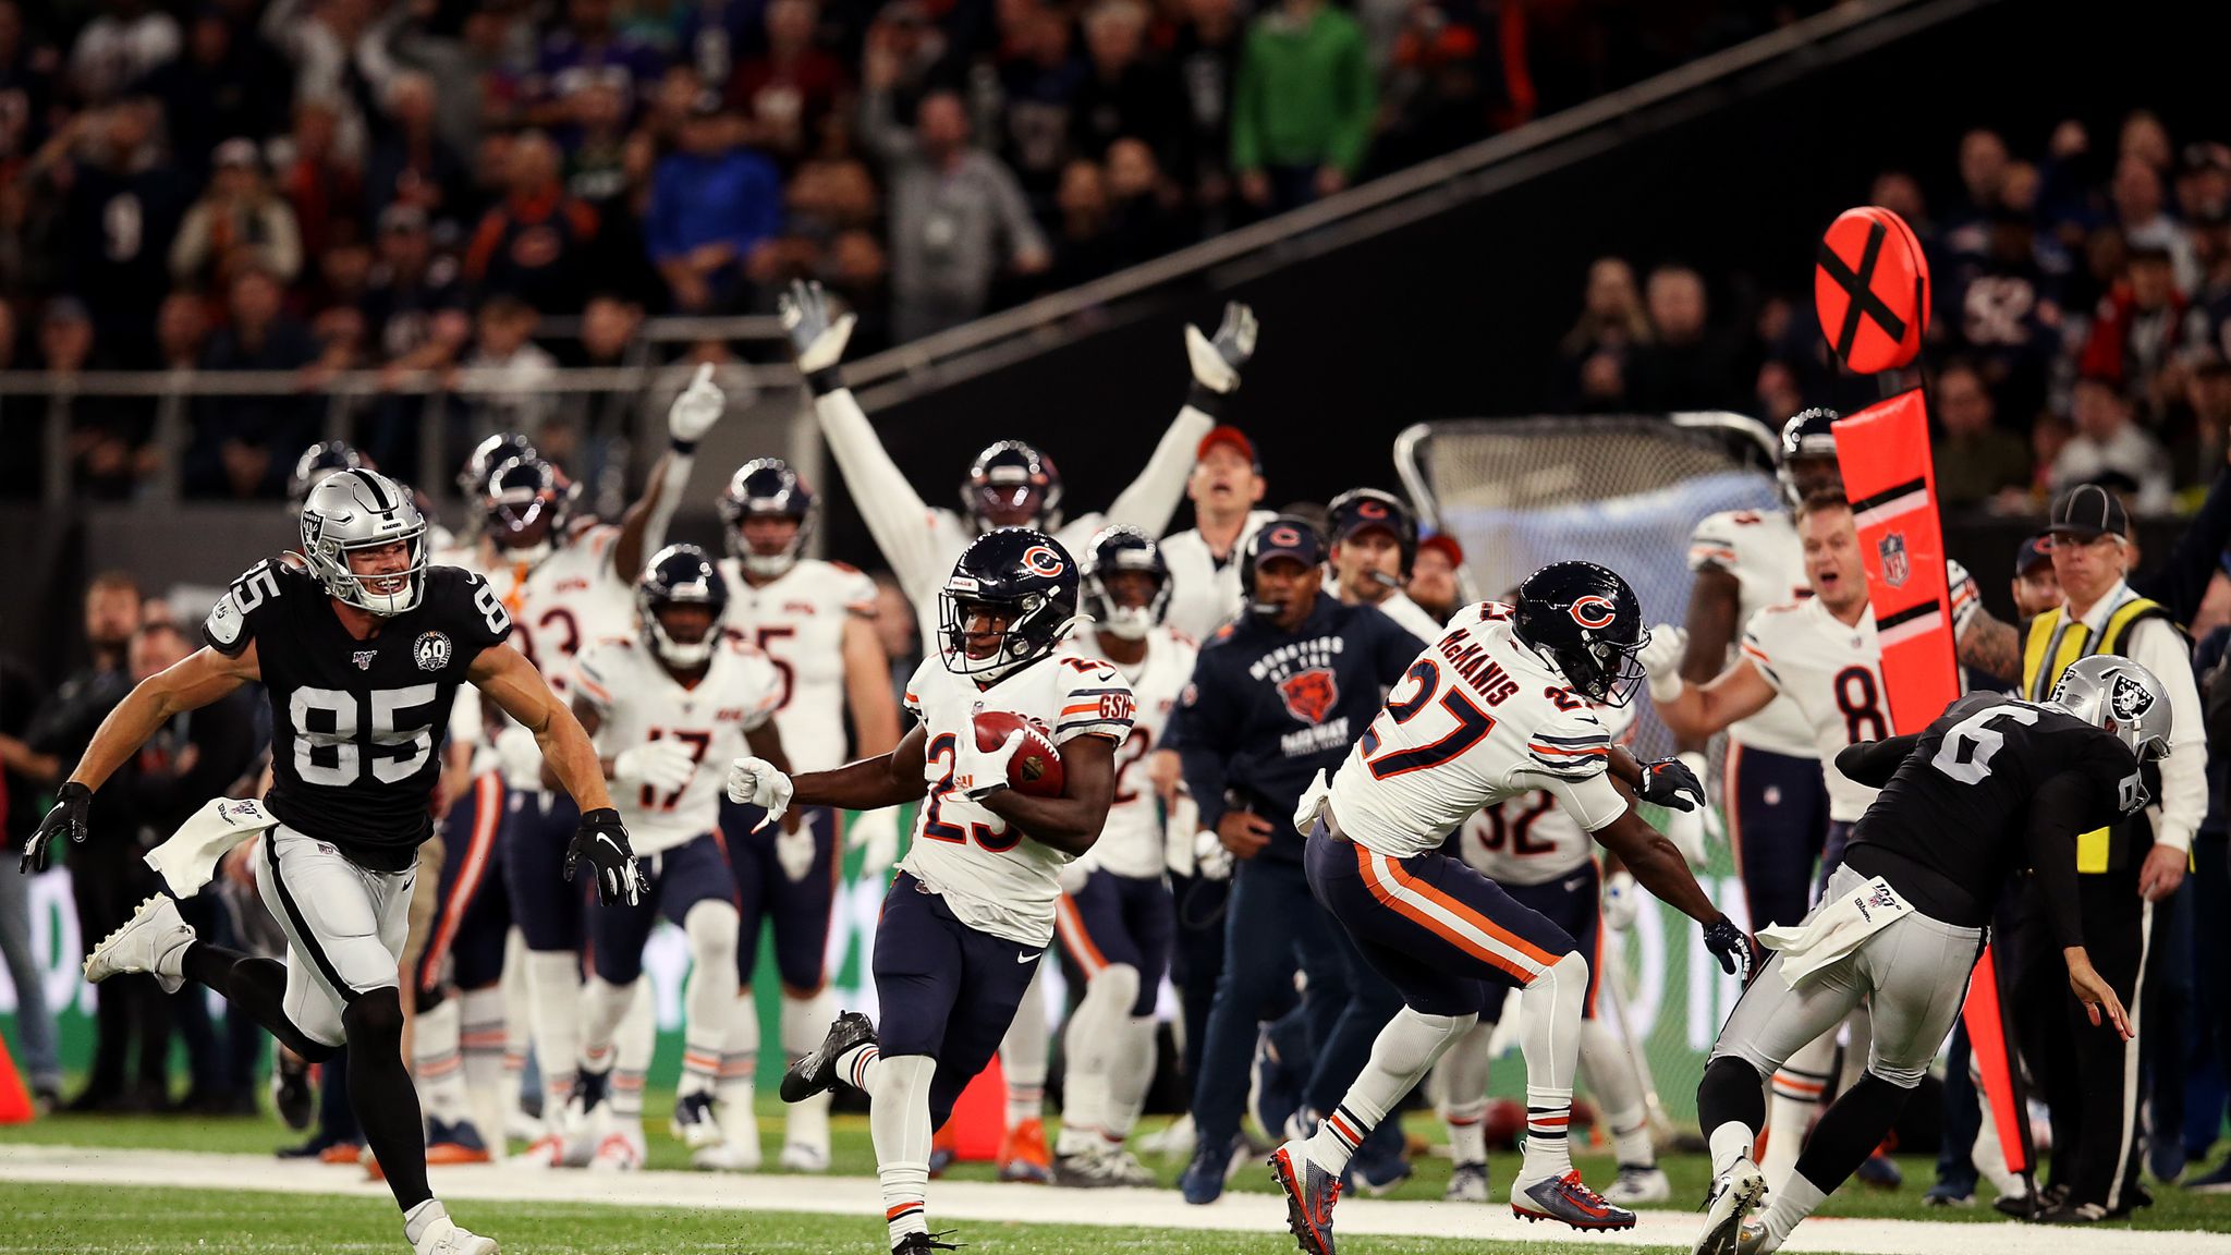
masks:
<svg viewBox="0 0 2231 1255"><path fill-rule="evenodd" d="M1107 516L1086 514L1062 523L1062 476L1035 447L999 440L977 453L962 485L966 520L950 509L930 509L906 482L906 473L883 451L859 400L837 375L852 315L837 317L821 284L792 284L779 301L783 328L799 371L814 391L814 415L828 440L852 502L859 507L883 561L915 603L924 641L939 639L939 590L968 540L993 527L1035 527L1082 554L1107 525L1131 525L1160 536L1178 509L1200 442L1216 427L1225 397L1240 386L1240 366L1254 355L1256 319L1247 306L1225 306L1216 337L1185 328L1185 353L1194 368L1187 404L1162 433L1153 456L1113 502ZM1015 1014L1015 1029L999 1047L1006 1076L1006 1146L999 1150L1002 1179L1044 1181L1046 1141L1040 1125L1046 1085L1046 1012L1037 994Z"/></svg>

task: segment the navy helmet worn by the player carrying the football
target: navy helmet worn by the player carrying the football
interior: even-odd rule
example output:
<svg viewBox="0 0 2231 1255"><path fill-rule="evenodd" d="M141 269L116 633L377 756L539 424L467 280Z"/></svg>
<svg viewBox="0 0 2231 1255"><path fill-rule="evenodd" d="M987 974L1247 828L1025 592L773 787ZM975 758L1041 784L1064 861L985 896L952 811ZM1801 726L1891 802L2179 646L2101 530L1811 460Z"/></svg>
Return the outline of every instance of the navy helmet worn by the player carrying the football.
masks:
<svg viewBox="0 0 2231 1255"><path fill-rule="evenodd" d="M1080 572L1035 527L999 527L968 543L937 592L937 652L946 670L991 683L1053 652L1078 623ZM986 616L997 632L970 632ZM982 636L993 641L982 641Z"/></svg>

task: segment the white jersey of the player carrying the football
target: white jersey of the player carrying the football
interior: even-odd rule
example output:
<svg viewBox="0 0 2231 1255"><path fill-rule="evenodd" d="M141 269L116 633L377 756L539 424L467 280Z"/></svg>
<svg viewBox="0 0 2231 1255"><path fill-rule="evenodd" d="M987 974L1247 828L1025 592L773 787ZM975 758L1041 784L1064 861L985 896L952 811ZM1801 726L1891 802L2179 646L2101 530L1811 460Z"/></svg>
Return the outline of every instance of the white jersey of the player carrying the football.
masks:
<svg viewBox="0 0 2231 1255"><path fill-rule="evenodd" d="M1133 697L1122 672L1098 659L1049 657L988 688L946 670L935 654L906 681L906 712L926 728L915 842L899 864L939 893L959 922L1017 945L1053 940L1053 902L1071 855L1026 840L1006 820L950 791L955 737L973 737L984 710L1013 710L1051 730L1057 746L1078 737L1131 735Z"/></svg>

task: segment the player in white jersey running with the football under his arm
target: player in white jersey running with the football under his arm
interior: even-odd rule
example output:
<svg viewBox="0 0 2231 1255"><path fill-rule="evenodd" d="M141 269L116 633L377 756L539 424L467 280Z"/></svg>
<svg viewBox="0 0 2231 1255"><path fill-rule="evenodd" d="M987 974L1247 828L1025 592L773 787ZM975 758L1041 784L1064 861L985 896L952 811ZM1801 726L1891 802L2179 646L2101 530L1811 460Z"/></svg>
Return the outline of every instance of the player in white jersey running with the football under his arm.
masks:
<svg viewBox="0 0 2231 1255"><path fill-rule="evenodd" d="M1044 531L986 531L953 565L937 659L906 683L917 724L899 748L796 779L736 759L727 795L779 815L792 802L875 808L921 799L915 844L875 933L881 1025L846 1012L783 1076L783 1101L843 1081L868 1092L868 1130L895 1255L950 1251L928 1233L930 1130L991 1061L1053 942L1060 875L1093 849L1116 795L1131 688L1098 659L1055 657L1075 625L1078 565ZM1008 788L1024 735L986 750L975 715L1011 710L1060 744L1060 797ZM924 795L924 784L928 793Z"/></svg>

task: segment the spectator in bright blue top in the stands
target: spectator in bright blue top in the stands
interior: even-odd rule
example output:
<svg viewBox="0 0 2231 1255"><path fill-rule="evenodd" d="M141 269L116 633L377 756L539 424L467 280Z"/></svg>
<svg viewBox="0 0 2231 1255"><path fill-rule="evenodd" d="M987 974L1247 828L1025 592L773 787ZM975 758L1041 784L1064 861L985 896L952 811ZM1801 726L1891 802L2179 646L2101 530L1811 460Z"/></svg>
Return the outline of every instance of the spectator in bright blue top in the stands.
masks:
<svg viewBox="0 0 2231 1255"><path fill-rule="evenodd" d="M747 270L783 226L783 176L736 143L741 130L718 96L701 98L683 123L680 150L658 163L651 181L651 261L685 313L743 306Z"/></svg>

